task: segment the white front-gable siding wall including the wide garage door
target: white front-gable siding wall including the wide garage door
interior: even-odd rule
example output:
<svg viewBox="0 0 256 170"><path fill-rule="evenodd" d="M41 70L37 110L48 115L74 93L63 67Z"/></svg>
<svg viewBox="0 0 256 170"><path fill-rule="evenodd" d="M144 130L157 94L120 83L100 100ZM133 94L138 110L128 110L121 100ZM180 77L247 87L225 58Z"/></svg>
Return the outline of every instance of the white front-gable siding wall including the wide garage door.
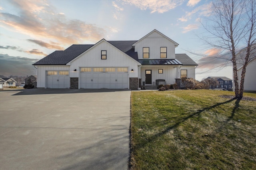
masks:
<svg viewBox="0 0 256 170"><path fill-rule="evenodd" d="M101 51L106 51L106 59L101 59ZM79 88L128 88L129 77L138 77L140 63L102 40L68 64L70 70L77 70L71 71L70 77L78 77ZM90 68L91 71L82 72L81 68ZM102 68L103 71L93 71L93 68ZM115 71L106 71L106 68ZM118 72L118 68L127 68L127 71Z"/></svg>

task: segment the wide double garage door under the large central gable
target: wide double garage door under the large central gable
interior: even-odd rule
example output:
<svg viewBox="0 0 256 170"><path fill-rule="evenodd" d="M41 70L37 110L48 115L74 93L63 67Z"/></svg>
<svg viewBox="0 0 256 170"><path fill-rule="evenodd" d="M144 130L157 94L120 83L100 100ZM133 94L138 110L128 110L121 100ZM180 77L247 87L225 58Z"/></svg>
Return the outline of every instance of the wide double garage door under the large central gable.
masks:
<svg viewBox="0 0 256 170"><path fill-rule="evenodd" d="M80 88L128 89L128 68L80 68Z"/></svg>

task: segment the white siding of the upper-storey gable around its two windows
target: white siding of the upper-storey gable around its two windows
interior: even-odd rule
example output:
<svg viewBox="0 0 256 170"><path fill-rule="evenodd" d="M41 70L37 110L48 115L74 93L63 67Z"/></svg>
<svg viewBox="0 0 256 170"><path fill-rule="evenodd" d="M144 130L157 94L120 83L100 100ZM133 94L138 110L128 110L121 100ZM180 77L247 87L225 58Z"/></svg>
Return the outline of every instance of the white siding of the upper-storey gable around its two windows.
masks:
<svg viewBox="0 0 256 170"><path fill-rule="evenodd" d="M143 59L143 47L149 47L149 59L160 59L160 47L167 47L166 59L175 59L174 43L157 32L151 33L135 44L135 52L138 52L139 59Z"/></svg>

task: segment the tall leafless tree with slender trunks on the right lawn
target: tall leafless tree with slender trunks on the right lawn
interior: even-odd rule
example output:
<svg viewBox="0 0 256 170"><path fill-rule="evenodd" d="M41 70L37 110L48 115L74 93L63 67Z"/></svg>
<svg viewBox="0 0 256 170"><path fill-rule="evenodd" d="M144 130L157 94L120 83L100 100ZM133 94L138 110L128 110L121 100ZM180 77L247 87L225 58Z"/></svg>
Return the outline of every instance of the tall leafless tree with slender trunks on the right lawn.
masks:
<svg viewBox="0 0 256 170"><path fill-rule="evenodd" d="M232 63L235 95L237 99L241 99L246 66L256 57L253 53L256 48L256 1L214 0L210 10L209 22L202 23L209 36L201 39L208 47L222 51L222 54L215 56L216 58L226 59ZM241 51L245 51L244 55L238 55ZM240 88L239 64L242 64Z"/></svg>

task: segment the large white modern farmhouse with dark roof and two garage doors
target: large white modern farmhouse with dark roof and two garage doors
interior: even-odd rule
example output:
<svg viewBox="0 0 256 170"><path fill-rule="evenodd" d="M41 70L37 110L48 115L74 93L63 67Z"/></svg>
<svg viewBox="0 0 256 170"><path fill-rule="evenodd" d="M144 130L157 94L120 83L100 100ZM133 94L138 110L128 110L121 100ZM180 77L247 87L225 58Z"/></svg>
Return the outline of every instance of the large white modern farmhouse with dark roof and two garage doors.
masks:
<svg viewBox="0 0 256 170"><path fill-rule="evenodd" d="M196 64L175 54L178 43L156 29L138 41L100 40L95 45L71 45L54 51L33 65L38 88L126 88L142 84L180 82L195 78Z"/></svg>

